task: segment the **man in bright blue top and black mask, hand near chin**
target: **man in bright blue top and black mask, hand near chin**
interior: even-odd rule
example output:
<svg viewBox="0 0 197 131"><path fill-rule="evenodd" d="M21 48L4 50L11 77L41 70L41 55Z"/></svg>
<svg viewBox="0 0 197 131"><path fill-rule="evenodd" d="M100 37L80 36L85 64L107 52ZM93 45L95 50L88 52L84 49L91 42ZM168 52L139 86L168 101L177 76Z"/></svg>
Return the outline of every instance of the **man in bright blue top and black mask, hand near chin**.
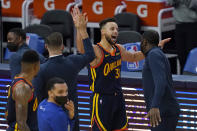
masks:
<svg viewBox="0 0 197 131"><path fill-rule="evenodd" d="M46 88L48 98L38 107L39 131L71 131L74 124L74 104L68 100L67 84L64 79L53 77L47 82Z"/></svg>

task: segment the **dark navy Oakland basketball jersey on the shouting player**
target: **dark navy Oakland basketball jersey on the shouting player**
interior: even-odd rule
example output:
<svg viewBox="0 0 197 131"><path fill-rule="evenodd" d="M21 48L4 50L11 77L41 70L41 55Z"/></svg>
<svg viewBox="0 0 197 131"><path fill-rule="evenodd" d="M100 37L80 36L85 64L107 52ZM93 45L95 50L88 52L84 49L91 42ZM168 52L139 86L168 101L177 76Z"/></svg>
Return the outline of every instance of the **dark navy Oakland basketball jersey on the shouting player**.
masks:
<svg viewBox="0 0 197 131"><path fill-rule="evenodd" d="M94 67L89 66L90 90L95 93L113 94L120 92L121 52L118 45L114 46L114 52L105 50L101 44L97 44L102 52L100 63Z"/></svg>

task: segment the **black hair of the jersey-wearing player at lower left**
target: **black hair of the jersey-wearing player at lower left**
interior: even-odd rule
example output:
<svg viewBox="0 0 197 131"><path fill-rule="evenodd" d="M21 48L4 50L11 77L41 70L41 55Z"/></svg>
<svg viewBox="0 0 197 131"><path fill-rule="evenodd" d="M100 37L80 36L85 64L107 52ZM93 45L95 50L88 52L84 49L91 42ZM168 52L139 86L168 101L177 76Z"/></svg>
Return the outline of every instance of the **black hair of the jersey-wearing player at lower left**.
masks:
<svg viewBox="0 0 197 131"><path fill-rule="evenodd" d="M39 55L34 50L26 51L23 54L22 60L21 60L22 63L29 63L29 64L36 63L36 62L39 62L39 61L40 61Z"/></svg>

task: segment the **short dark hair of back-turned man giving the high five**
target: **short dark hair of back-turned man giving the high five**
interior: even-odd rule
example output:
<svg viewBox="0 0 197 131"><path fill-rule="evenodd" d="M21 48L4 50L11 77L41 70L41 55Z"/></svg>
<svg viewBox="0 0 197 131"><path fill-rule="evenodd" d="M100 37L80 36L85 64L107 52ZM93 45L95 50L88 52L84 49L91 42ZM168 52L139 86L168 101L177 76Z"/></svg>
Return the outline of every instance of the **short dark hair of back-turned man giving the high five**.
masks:
<svg viewBox="0 0 197 131"><path fill-rule="evenodd" d="M60 47L63 43L63 36L59 32L53 32L45 39L45 43L50 47Z"/></svg>

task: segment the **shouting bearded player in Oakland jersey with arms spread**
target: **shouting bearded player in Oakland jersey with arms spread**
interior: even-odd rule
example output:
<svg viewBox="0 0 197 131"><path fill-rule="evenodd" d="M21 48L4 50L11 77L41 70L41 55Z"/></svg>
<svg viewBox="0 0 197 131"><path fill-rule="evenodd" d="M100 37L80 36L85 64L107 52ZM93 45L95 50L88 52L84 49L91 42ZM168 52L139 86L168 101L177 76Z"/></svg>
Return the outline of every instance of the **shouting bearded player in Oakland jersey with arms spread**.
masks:
<svg viewBox="0 0 197 131"><path fill-rule="evenodd" d="M72 12L75 27L82 15L75 7ZM114 18L100 22L101 41L94 45L96 58L89 65L92 95L91 127L93 131L126 130L128 120L120 84L121 61L135 62L144 59L142 52L130 53L117 44L118 25ZM169 39L163 40L160 45ZM84 53L80 34L77 32L77 49Z"/></svg>

